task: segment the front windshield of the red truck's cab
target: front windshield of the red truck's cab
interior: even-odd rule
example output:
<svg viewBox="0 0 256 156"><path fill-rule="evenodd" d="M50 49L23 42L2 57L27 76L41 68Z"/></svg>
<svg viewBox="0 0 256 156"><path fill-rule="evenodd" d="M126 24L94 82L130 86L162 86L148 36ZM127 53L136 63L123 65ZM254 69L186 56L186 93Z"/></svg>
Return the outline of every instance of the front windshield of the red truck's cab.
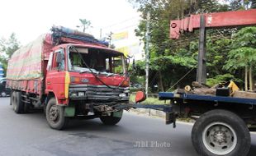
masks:
<svg viewBox="0 0 256 156"><path fill-rule="evenodd" d="M80 53L80 54L79 54ZM84 63L84 62L85 63ZM95 72L105 75L126 73L125 57L122 53L98 48L69 48L69 71ZM91 68L91 71L89 68Z"/></svg>

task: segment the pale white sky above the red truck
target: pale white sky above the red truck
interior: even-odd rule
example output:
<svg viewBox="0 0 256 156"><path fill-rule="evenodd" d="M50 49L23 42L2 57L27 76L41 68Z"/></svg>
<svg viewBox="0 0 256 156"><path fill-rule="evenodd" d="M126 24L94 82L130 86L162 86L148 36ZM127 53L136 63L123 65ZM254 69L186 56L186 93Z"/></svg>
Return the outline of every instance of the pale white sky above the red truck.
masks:
<svg viewBox="0 0 256 156"><path fill-rule="evenodd" d="M140 20L140 13L127 0L6 0L0 2L0 15L0 38L13 32L23 45L50 32L52 25L78 29L79 18L91 21L88 33L96 37L101 28L104 36Z"/></svg>

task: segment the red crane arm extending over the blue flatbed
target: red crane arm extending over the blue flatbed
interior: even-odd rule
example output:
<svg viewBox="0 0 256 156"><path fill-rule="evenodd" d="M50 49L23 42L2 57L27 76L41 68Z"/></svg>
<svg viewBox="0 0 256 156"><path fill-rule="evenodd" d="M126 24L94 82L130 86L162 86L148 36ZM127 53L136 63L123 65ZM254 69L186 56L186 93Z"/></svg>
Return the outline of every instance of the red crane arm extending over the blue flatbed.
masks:
<svg viewBox="0 0 256 156"><path fill-rule="evenodd" d="M215 12L203 15L206 19L206 28L256 25L256 9ZM170 23L170 38L178 39L181 32L193 31L199 27L200 15L191 15L182 20L173 20Z"/></svg>

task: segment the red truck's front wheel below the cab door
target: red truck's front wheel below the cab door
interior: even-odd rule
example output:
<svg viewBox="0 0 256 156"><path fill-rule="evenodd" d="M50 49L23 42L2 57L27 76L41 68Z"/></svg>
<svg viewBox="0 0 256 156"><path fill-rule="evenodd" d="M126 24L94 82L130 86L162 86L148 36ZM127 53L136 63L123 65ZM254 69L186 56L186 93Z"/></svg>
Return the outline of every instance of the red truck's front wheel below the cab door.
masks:
<svg viewBox="0 0 256 156"><path fill-rule="evenodd" d="M55 130L62 130L68 124L68 117L64 117L64 107L56 104L56 99L49 100L46 106L46 119L49 126Z"/></svg>

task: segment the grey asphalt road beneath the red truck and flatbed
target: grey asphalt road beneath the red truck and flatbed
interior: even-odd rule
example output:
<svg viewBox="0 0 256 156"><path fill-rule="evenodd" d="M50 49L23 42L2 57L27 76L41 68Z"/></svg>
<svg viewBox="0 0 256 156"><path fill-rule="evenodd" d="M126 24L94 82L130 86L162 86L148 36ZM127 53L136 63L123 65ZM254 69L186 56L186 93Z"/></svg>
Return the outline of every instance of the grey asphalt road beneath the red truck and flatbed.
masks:
<svg viewBox="0 0 256 156"><path fill-rule="evenodd" d="M73 120L64 131L47 125L42 112L16 114L9 98L0 98L0 155L4 156L197 156L192 147L192 126L166 126L164 119L126 112L116 126L98 119ZM256 155L252 134L250 156Z"/></svg>

